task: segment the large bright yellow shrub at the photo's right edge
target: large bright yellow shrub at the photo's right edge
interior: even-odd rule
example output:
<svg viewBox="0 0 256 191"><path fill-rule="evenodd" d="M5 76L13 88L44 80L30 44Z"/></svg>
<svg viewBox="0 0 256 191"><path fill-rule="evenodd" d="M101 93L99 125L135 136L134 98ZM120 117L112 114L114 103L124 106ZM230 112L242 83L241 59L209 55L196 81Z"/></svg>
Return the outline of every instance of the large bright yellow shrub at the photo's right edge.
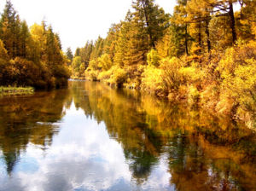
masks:
<svg viewBox="0 0 256 191"><path fill-rule="evenodd" d="M218 112L238 117L244 112L255 113L256 43L227 49L217 70L222 78Z"/></svg>

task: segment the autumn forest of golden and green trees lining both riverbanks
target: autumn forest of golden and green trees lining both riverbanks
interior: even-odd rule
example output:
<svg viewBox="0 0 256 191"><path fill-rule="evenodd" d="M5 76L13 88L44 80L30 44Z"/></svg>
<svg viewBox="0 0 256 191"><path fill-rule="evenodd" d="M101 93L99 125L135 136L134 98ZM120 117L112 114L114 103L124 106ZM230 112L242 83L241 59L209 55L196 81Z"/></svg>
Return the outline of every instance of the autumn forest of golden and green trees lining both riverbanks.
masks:
<svg viewBox="0 0 256 191"><path fill-rule="evenodd" d="M184 101L255 127L256 2L177 0L166 14L154 0L134 0L106 38L73 55L62 52L52 26L28 27L7 1L0 85L55 88L70 77Z"/></svg>

